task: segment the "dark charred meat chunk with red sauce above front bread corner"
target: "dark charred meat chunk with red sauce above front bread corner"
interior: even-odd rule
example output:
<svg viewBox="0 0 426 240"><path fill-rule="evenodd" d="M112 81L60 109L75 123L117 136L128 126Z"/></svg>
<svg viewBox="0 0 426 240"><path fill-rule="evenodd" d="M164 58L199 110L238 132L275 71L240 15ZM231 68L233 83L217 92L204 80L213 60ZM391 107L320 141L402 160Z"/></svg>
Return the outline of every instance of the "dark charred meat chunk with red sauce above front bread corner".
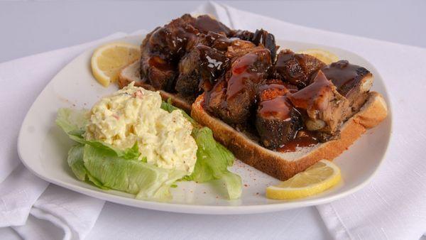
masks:
<svg viewBox="0 0 426 240"><path fill-rule="evenodd" d="M287 95L292 92L295 92L294 88L277 81L259 87L256 129L266 148L283 146L302 127L300 112L288 100Z"/></svg>

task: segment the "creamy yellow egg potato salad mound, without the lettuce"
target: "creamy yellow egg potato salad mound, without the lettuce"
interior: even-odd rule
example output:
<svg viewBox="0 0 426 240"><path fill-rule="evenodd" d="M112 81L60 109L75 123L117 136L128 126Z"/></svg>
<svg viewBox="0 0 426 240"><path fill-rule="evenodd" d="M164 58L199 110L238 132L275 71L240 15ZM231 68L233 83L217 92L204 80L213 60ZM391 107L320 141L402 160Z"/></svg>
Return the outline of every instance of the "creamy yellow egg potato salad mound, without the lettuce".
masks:
<svg viewBox="0 0 426 240"><path fill-rule="evenodd" d="M161 109L161 103L158 92L131 83L94 104L84 137L119 149L136 142L139 158L147 163L192 173L197 161L193 126L182 111L169 113Z"/></svg>

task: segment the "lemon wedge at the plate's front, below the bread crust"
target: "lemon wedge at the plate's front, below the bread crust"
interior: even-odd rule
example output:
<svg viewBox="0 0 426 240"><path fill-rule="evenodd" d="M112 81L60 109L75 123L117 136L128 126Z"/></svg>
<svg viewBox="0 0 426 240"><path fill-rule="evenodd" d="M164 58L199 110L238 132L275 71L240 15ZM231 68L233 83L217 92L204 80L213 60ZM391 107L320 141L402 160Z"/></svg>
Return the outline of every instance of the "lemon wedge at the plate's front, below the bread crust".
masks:
<svg viewBox="0 0 426 240"><path fill-rule="evenodd" d="M340 169L329 160L319 162L275 186L266 187L266 197L292 200L308 197L337 185L342 179Z"/></svg>

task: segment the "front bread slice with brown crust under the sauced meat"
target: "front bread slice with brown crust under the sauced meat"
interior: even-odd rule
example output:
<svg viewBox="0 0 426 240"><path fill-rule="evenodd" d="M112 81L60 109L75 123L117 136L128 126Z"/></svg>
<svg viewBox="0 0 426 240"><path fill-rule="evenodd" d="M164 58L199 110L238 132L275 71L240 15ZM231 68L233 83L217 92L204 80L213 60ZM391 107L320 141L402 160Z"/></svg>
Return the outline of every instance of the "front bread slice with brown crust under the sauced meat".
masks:
<svg viewBox="0 0 426 240"><path fill-rule="evenodd" d="M214 138L232 151L236 158L279 180L287 180L319 160L333 160L349 148L366 129L378 125L388 115L382 95L369 92L368 99L360 111L342 125L340 139L300 148L291 153L280 153L264 148L244 133L209 115L202 107L203 102L204 94L197 97L192 104L192 118L212 129Z"/></svg>

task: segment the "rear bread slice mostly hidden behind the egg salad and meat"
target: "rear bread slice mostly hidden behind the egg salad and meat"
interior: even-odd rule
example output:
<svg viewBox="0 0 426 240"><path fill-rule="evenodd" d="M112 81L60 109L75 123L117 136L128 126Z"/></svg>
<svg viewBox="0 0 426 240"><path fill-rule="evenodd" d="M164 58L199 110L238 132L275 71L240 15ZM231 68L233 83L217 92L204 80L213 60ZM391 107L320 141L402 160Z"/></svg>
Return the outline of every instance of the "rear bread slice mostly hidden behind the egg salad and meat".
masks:
<svg viewBox="0 0 426 240"><path fill-rule="evenodd" d="M156 91L151 84L143 82L141 80L141 60L136 60L131 64L124 67L119 74L119 87L122 88L127 86L127 84L131 82L135 82L135 86L143 87L145 89ZM172 99L173 105L180 109L183 109L188 114L191 112L191 104L194 102L192 99L187 99L185 97L180 96L179 94L173 94L170 92L165 92L163 90L159 90L161 97L163 100L167 101L168 99Z"/></svg>

